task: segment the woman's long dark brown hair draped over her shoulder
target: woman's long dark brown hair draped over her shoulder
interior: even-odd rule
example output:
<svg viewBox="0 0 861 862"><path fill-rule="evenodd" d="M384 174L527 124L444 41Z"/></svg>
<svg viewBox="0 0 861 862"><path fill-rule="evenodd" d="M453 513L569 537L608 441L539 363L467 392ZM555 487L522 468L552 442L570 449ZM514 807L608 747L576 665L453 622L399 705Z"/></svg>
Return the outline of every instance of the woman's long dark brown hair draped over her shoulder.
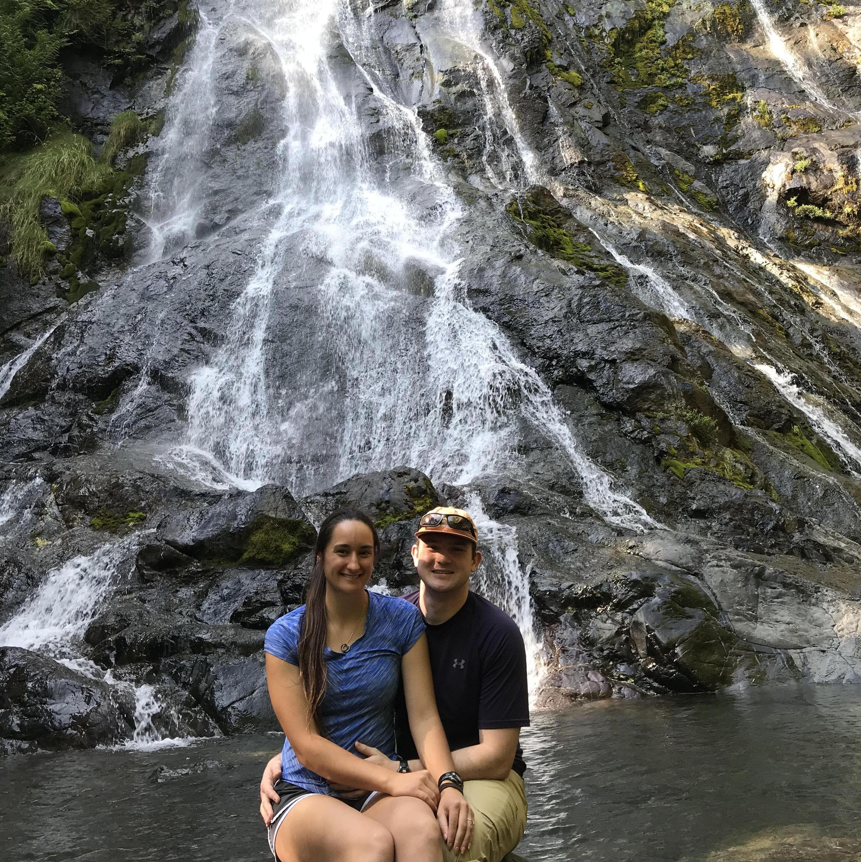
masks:
<svg viewBox="0 0 861 862"><path fill-rule="evenodd" d="M320 706L325 697L326 673L323 652L325 650L326 623L325 572L323 560L331 534L344 521L358 521L370 528L374 536L374 561L380 556L380 536L374 522L360 509L339 509L320 524L317 541L314 543L314 567L305 591L305 613L299 635L299 676L308 702L308 717L313 718L320 734L325 728L320 720Z"/></svg>

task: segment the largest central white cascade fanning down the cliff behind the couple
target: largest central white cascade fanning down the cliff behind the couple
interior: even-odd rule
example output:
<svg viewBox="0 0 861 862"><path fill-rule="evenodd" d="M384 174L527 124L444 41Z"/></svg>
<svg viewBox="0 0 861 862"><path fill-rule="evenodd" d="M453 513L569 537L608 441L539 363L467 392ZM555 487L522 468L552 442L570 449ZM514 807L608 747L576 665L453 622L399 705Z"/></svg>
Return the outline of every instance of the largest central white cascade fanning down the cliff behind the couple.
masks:
<svg viewBox="0 0 861 862"><path fill-rule="evenodd" d="M189 440L172 457L209 484L286 480L297 494L403 463L463 483L511 465L525 420L567 453L598 512L629 528L655 526L580 451L549 390L499 328L468 307L449 239L461 216L455 195L414 112L361 68L388 128L380 176L359 107L344 99L330 67L333 40L354 56L369 53L362 22L335 0L287 3L273 14L255 28L288 81L281 215L234 305L228 343L191 380ZM288 370L293 378L279 381L287 397L277 403L266 344L271 304L309 270L318 343L334 373ZM409 271L434 284L435 299L399 289Z"/></svg>

